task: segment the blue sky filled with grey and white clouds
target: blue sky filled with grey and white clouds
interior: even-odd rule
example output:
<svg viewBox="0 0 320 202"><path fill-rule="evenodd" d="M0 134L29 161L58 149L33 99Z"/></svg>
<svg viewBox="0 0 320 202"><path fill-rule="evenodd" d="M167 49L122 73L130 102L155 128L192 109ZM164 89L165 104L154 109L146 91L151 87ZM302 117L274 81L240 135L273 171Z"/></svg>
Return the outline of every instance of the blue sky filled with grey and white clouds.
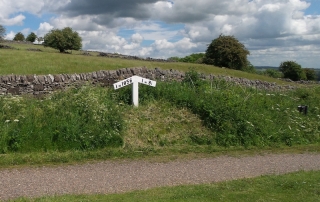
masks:
<svg viewBox="0 0 320 202"><path fill-rule="evenodd" d="M320 0L0 0L0 24L7 39L71 27L83 50L163 59L232 35L255 66L320 68Z"/></svg>

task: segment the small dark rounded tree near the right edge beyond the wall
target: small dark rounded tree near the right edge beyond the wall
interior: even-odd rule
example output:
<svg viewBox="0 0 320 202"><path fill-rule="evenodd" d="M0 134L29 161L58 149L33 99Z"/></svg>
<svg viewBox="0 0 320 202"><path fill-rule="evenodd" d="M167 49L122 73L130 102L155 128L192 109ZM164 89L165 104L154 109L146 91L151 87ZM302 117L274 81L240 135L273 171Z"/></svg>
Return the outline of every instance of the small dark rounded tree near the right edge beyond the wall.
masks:
<svg viewBox="0 0 320 202"><path fill-rule="evenodd" d="M291 79L293 81L306 80L306 73L301 68L301 65L294 61L282 62L279 66L279 71L283 73L284 78Z"/></svg>

